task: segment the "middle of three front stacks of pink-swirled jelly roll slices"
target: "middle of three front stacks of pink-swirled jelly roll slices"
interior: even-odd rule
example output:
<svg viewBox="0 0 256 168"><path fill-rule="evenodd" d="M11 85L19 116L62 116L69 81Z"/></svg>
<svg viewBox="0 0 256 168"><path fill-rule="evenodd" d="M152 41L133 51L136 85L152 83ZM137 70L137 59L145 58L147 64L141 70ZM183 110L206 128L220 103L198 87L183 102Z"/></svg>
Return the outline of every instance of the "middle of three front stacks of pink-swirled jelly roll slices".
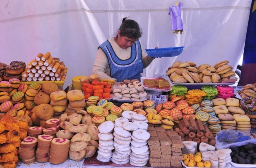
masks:
<svg viewBox="0 0 256 168"><path fill-rule="evenodd" d="M50 135L39 135L37 137L37 150L36 159L37 162L49 162L50 146L53 137Z"/></svg>

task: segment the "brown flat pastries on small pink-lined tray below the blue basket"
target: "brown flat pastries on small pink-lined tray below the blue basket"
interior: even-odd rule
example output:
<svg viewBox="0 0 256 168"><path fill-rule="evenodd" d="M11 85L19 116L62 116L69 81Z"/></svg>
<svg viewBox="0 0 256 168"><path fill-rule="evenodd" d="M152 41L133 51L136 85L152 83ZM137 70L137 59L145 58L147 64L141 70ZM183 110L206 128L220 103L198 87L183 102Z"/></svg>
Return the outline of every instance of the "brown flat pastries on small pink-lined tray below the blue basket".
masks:
<svg viewBox="0 0 256 168"><path fill-rule="evenodd" d="M157 88L157 89L169 89L170 83L164 78L152 78L152 79L143 79L143 85L149 88Z"/></svg>

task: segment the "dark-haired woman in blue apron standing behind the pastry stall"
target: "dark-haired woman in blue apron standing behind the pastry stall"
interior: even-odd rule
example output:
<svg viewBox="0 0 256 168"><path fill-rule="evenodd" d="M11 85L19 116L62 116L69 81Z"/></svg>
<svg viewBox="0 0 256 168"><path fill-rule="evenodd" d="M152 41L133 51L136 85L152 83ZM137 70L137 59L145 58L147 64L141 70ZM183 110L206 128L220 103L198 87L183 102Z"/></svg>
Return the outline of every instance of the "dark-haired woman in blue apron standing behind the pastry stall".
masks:
<svg viewBox="0 0 256 168"><path fill-rule="evenodd" d="M139 42L141 35L139 24L125 17L117 35L98 47L93 73L117 82L140 80L143 69L154 60L144 54Z"/></svg>

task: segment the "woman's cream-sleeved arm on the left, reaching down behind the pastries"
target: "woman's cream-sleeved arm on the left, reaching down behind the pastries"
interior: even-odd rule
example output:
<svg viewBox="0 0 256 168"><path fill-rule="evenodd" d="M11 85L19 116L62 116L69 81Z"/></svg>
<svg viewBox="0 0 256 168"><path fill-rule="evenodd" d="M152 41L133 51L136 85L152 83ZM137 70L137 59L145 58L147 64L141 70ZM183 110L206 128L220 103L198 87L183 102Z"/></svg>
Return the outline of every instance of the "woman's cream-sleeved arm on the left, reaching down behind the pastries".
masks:
<svg viewBox="0 0 256 168"><path fill-rule="evenodd" d="M115 78L111 78L109 75L106 74L107 67L108 58L106 57L102 49L99 48L96 54L95 62L93 64L93 73L99 75L100 79L116 80Z"/></svg>

